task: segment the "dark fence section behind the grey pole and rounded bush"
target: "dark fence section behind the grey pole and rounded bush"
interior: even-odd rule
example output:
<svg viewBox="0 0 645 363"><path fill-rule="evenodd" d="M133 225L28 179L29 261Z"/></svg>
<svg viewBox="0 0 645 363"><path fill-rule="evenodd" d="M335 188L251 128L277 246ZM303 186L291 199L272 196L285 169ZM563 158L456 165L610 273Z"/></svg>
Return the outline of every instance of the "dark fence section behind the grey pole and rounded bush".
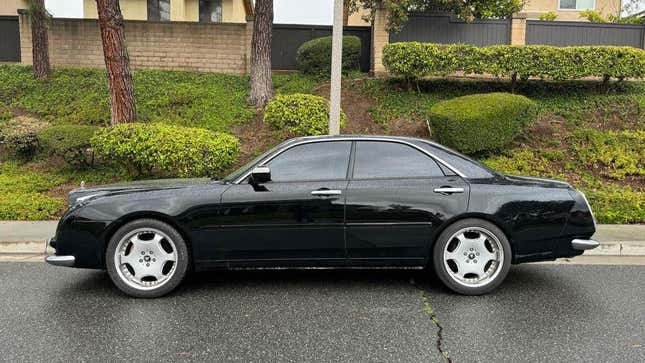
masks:
<svg viewBox="0 0 645 363"><path fill-rule="evenodd" d="M302 43L315 38L330 36L331 26L273 24L273 44L271 46L271 65L275 70L296 69L296 52ZM344 35L355 35L361 40L361 71L370 70L372 46L371 28L351 26L343 29Z"/></svg>

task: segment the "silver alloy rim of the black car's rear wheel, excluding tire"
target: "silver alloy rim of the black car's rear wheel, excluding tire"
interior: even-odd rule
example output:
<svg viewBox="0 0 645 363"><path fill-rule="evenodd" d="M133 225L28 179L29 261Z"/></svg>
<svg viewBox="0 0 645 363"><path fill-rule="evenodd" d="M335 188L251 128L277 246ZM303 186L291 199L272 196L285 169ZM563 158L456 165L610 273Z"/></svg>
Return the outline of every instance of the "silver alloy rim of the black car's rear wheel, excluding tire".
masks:
<svg viewBox="0 0 645 363"><path fill-rule="evenodd" d="M499 239L481 227L455 232L443 251L443 263L450 277L460 285L480 287L495 280L504 265Z"/></svg>

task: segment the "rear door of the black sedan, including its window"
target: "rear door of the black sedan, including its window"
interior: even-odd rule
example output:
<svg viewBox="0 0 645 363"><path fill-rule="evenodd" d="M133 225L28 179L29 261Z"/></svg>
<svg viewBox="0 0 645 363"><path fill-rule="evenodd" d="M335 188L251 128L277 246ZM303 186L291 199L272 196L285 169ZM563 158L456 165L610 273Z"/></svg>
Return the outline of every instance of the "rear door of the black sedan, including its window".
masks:
<svg viewBox="0 0 645 363"><path fill-rule="evenodd" d="M468 192L464 180L412 145L357 141L346 199L350 262L425 263L437 228L467 210Z"/></svg>

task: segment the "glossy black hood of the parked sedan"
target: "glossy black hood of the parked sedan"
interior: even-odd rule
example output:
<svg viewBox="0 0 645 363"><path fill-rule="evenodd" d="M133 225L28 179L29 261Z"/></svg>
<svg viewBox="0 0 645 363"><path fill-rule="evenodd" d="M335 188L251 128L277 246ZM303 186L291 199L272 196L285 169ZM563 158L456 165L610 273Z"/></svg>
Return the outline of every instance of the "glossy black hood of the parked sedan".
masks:
<svg viewBox="0 0 645 363"><path fill-rule="evenodd" d="M202 185L206 183L213 183L208 178L194 178L194 179L155 179L155 180L142 180L129 183L118 183L99 185L95 187L85 188L80 187L69 192L67 203L72 206L79 202L85 202L90 199L95 199L108 195L127 194L133 192L150 192L155 190L165 189L180 189L189 186Z"/></svg>

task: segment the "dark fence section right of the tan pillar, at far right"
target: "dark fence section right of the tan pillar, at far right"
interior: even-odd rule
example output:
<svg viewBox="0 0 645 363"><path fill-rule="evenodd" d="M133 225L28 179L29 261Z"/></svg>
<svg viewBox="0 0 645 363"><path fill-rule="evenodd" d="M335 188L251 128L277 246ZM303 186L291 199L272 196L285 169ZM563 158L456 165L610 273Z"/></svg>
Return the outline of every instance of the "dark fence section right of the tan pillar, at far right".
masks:
<svg viewBox="0 0 645 363"><path fill-rule="evenodd" d="M526 22L526 44L627 45L643 48L645 26L577 21Z"/></svg>

